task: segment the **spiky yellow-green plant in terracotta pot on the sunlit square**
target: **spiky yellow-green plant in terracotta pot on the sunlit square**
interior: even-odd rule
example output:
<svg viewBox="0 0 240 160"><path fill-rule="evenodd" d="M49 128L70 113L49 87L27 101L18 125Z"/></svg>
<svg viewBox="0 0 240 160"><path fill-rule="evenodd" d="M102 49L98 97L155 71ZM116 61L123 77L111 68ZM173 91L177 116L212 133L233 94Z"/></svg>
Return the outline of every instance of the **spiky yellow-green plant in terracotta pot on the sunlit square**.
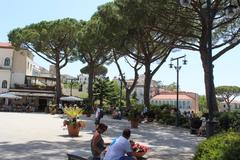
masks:
<svg viewBox="0 0 240 160"><path fill-rule="evenodd" d="M84 121L77 120L82 115L82 109L78 107L66 107L63 109L67 115L67 120L63 121L63 125L67 126L68 134L71 137L77 137L81 128L85 128Z"/></svg>

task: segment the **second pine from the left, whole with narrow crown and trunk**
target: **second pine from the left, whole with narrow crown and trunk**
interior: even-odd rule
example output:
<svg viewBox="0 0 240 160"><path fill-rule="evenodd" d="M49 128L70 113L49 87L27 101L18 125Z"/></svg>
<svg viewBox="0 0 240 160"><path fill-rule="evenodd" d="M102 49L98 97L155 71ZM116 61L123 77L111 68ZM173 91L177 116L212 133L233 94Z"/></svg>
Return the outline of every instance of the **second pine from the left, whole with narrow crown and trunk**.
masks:
<svg viewBox="0 0 240 160"><path fill-rule="evenodd" d="M98 15L93 15L78 32L77 48L78 54L76 59L88 66L88 98L93 105L93 82L95 79L95 68L102 66L110 58L109 39L104 37L104 33L108 31L105 24Z"/></svg>

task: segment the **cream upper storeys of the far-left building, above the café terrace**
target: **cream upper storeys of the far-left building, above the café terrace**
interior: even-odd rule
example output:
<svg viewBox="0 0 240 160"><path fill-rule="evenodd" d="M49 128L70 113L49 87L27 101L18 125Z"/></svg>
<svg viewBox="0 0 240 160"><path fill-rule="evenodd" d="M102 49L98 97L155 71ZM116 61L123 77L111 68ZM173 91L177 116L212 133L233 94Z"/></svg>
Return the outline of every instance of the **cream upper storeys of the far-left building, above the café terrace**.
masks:
<svg viewBox="0 0 240 160"><path fill-rule="evenodd" d="M10 43L0 43L0 93L15 84L24 84L25 76L32 76L33 55L27 50L16 51Z"/></svg>

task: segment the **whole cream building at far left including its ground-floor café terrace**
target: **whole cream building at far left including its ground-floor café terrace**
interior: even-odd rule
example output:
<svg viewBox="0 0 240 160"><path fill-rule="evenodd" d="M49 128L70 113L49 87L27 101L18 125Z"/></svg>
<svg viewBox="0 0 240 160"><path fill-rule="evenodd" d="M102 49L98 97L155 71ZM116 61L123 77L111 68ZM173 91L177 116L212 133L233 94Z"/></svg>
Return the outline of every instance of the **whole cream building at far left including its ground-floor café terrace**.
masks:
<svg viewBox="0 0 240 160"><path fill-rule="evenodd" d="M0 93L10 92L22 97L11 100L11 104L5 101L5 105L11 107L7 108L9 111L14 111L12 107L17 105L31 105L36 111L44 111L55 96L56 79L39 76L41 69L38 70L33 58L26 49L16 51L10 43L0 43Z"/></svg>

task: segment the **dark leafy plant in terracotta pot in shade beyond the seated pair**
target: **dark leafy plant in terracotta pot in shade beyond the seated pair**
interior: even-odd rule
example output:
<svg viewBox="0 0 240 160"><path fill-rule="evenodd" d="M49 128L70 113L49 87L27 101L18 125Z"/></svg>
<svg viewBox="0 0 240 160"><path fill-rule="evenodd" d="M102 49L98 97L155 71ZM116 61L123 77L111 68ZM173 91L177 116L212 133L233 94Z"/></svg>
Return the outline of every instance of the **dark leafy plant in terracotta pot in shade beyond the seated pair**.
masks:
<svg viewBox="0 0 240 160"><path fill-rule="evenodd" d="M131 122L131 128L138 128L141 119L141 112L137 108L132 107L128 112L128 120Z"/></svg>

